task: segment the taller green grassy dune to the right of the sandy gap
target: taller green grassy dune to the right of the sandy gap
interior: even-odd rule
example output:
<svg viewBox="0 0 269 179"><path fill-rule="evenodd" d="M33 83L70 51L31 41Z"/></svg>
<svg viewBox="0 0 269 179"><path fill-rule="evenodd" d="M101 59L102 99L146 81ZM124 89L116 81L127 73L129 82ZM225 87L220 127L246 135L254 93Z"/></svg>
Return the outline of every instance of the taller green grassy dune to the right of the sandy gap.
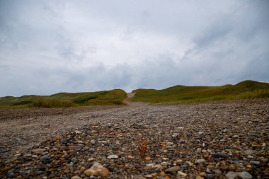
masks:
<svg viewBox="0 0 269 179"><path fill-rule="evenodd" d="M132 101L148 103L191 103L212 100L269 98L269 83L242 81L224 86L173 86L162 90L137 89Z"/></svg>

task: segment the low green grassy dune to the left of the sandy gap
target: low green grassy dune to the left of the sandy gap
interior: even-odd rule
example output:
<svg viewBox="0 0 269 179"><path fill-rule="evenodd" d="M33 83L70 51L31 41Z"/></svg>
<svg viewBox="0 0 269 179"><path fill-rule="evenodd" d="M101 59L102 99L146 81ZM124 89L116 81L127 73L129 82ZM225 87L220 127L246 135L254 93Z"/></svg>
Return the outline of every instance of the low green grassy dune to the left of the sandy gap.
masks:
<svg viewBox="0 0 269 179"><path fill-rule="evenodd" d="M6 96L0 98L1 108L57 108L83 105L122 105L127 93L120 89L85 93L56 93L51 96Z"/></svg>

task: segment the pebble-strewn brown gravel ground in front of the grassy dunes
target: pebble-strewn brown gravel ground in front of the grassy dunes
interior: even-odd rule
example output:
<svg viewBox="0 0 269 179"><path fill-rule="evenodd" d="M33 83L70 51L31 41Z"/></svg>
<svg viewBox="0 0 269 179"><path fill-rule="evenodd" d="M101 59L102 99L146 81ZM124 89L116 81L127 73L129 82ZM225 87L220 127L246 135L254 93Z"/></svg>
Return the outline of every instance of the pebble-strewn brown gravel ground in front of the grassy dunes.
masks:
<svg viewBox="0 0 269 179"><path fill-rule="evenodd" d="M269 178L269 99L0 109L0 178Z"/></svg>

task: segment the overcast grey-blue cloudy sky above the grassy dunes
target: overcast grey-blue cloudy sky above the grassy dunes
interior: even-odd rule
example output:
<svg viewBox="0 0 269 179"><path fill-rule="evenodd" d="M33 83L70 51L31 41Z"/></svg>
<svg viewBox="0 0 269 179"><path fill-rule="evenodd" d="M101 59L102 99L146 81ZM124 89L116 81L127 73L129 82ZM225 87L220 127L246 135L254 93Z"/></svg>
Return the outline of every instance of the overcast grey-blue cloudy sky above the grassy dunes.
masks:
<svg viewBox="0 0 269 179"><path fill-rule="evenodd" d="M269 1L0 0L0 96L269 82Z"/></svg>

